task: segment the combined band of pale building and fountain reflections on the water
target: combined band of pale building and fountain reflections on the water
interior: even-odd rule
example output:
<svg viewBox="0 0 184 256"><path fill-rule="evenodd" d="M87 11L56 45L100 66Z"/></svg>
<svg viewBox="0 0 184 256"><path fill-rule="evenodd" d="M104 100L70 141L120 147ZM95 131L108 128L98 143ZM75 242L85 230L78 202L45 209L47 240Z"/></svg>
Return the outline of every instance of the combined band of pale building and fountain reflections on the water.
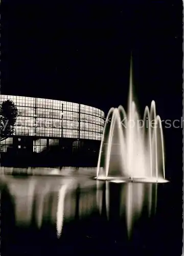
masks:
<svg viewBox="0 0 184 256"><path fill-rule="evenodd" d="M99 216L122 219L127 235L139 220L143 207L148 217L154 215L157 184L112 183L93 180L80 174L66 177L4 176L15 202L16 226L31 226L34 219L40 229L45 221L55 226L57 237L62 236L64 223L79 220L99 212ZM119 213L111 205L118 204ZM144 208L145 208L144 207Z"/></svg>

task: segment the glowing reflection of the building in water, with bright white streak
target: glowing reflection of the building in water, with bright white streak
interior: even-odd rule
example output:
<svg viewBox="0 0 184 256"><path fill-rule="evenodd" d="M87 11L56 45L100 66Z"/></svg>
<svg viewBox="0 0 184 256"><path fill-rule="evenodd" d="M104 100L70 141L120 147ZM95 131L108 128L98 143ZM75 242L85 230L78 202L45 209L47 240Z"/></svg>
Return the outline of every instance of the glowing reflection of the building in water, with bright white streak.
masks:
<svg viewBox="0 0 184 256"><path fill-rule="evenodd" d="M58 237L64 222L90 215L96 204L96 190L82 188L74 179L10 178L8 185L15 199L16 225L43 223L56 226ZM77 188L77 189L76 189Z"/></svg>

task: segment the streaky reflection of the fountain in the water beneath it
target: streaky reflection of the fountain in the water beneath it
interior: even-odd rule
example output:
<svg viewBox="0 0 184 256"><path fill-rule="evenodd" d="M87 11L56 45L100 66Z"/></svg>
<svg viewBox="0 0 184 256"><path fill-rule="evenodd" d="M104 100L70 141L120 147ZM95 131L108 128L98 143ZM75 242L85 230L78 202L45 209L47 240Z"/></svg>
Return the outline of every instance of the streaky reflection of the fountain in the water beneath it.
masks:
<svg viewBox="0 0 184 256"><path fill-rule="evenodd" d="M103 193L105 194L106 215L109 219L110 212L110 183L105 182L104 192L100 189L100 181L97 181L97 206L102 214ZM127 232L130 236L133 223L139 219L142 214L143 204L146 203L148 217L156 213L157 204L157 184L152 183L125 183L120 184L120 217L126 216Z"/></svg>

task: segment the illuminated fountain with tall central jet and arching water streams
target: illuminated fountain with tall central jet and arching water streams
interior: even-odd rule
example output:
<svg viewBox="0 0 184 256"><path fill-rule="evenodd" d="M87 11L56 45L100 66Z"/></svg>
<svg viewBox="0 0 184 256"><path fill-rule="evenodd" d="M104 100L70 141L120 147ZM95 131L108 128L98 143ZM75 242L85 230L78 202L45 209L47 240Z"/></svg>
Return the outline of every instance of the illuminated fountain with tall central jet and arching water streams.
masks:
<svg viewBox="0 0 184 256"><path fill-rule="evenodd" d="M103 167L102 161L104 160ZM117 166L118 165L118 166ZM118 176L111 175L119 170ZM117 182L167 182L162 122L155 101L140 119L132 92L132 68L128 113L123 106L108 112L97 165L97 179Z"/></svg>

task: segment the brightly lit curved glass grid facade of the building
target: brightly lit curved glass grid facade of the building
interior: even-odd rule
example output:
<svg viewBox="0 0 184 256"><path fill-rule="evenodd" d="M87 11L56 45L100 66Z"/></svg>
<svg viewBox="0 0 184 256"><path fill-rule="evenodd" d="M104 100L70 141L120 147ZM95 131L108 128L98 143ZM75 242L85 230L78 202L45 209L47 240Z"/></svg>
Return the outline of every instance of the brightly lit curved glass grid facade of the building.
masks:
<svg viewBox="0 0 184 256"><path fill-rule="evenodd" d="M60 139L96 140L102 138L104 112L83 104L23 96L1 95L1 104L12 100L18 110L12 138L33 138L33 151L40 152ZM49 139L49 141L48 141ZM5 146L6 147L6 146Z"/></svg>

